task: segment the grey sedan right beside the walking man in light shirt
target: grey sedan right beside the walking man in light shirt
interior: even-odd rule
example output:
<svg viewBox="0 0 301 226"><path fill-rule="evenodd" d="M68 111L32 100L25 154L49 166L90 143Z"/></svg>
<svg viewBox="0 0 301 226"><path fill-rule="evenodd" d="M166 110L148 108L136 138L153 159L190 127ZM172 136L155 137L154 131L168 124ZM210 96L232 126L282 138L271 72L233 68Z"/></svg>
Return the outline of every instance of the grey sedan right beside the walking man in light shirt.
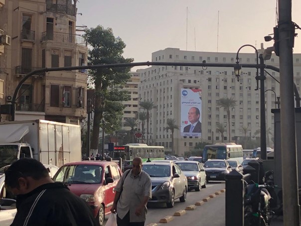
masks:
<svg viewBox="0 0 301 226"><path fill-rule="evenodd" d="M166 203L172 208L175 199L186 201L187 178L173 162L144 163L142 168L151 177L151 200L149 203Z"/></svg>

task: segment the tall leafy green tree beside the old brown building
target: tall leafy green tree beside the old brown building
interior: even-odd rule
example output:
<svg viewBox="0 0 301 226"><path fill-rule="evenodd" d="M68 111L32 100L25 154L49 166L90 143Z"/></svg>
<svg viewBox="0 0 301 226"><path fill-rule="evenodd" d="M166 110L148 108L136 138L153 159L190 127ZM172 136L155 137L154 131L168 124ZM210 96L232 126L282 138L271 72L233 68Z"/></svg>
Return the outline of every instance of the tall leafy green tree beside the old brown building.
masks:
<svg viewBox="0 0 301 226"><path fill-rule="evenodd" d="M86 29L84 38L91 47L89 49L88 62L93 65L133 62L132 58L124 58L122 56L126 44L120 37L114 36L112 28L105 29L103 26L98 25L95 28ZM94 82L95 92L101 92L104 95L104 100L102 95L95 95L95 102L93 103L95 106L91 140L93 153L97 152L98 148L99 128L103 112L107 112L106 124L118 124L114 120L120 120L121 118L120 114L124 109L121 102L130 98L126 91L117 89L131 77L129 72L129 67L89 70L88 77ZM108 90L109 87L113 89ZM106 103L104 109L101 108L103 101ZM110 128L113 128L113 126Z"/></svg>

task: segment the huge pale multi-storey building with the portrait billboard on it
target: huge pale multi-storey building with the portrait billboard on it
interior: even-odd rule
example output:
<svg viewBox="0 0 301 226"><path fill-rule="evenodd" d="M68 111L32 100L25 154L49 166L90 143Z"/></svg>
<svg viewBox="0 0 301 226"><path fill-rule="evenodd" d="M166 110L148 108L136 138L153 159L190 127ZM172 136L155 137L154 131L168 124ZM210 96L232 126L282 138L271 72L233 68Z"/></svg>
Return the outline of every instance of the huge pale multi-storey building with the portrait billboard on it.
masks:
<svg viewBox="0 0 301 226"><path fill-rule="evenodd" d="M240 63L256 64L255 53L242 51L239 53ZM263 49L258 51L261 52ZM205 60L208 63L235 63L236 53L166 48L153 52L151 59L156 62L203 62ZM294 80L299 92L301 91L300 59L301 54L294 54ZM265 64L279 67L279 57L273 54ZM279 80L278 72L267 71ZM231 67L151 66L138 72L141 79L138 87L139 97L142 101L153 101L157 106L157 109L151 110L150 119L150 143L153 145L163 145L166 150L171 150L171 132L167 132L164 128L168 118L175 119L177 125L180 125L182 88L202 90L202 134L201 137L183 137L180 136L180 130L176 130L174 133L176 154L183 155L185 151L193 149L198 142L222 142L221 134L216 129L218 123L224 124L226 131L224 142L228 141L227 112L217 106L217 101L223 97L233 97L236 100L236 106L230 110L231 141L245 136L243 127L247 128L246 136L249 137L254 137L254 133L260 129L260 89L257 89L260 87L257 86L255 79L256 68L242 68L239 81L236 80L234 69ZM280 86L269 74L266 72L265 74L266 128L274 133L274 115L271 109L275 108L275 99L280 95ZM271 136L267 145L273 146Z"/></svg>

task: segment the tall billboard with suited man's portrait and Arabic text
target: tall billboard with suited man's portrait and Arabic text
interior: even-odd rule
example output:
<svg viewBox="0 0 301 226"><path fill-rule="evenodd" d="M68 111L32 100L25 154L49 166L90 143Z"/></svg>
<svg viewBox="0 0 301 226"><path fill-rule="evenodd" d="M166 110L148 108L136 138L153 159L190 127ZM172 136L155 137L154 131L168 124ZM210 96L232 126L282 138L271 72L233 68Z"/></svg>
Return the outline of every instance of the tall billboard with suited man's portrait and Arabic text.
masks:
<svg viewBox="0 0 301 226"><path fill-rule="evenodd" d="M181 89L181 136L202 135L202 90Z"/></svg>

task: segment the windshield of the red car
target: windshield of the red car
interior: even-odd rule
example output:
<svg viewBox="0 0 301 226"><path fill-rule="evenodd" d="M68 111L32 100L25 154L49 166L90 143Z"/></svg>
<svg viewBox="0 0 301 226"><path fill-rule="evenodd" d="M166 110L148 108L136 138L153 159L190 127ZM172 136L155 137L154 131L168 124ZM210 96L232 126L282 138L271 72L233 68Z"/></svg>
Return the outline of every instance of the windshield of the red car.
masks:
<svg viewBox="0 0 301 226"><path fill-rule="evenodd" d="M59 169L53 180L65 184L100 184L102 168L98 165L66 165Z"/></svg>

